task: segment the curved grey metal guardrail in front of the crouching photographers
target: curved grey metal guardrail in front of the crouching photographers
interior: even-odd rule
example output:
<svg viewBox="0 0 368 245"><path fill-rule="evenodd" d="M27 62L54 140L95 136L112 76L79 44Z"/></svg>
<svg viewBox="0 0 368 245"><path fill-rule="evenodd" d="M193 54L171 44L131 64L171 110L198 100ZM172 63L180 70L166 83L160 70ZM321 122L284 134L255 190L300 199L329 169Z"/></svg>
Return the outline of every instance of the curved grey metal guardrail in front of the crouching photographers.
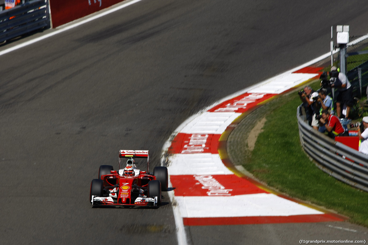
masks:
<svg viewBox="0 0 368 245"><path fill-rule="evenodd" d="M297 110L302 148L330 176L368 192L368 156L313 129Z"/></svg>

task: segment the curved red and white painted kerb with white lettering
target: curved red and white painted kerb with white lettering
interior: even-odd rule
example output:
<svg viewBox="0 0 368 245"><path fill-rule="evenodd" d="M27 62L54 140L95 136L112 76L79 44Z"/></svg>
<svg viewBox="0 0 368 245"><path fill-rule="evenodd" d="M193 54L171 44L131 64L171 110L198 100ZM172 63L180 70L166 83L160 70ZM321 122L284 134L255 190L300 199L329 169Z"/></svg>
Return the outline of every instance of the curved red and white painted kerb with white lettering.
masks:
<svg viewBox="0 0 368 245"><path fill-rule="evenodd" d="M186 226L341 220L264 191L231 172L217 151L221 134L238 116L302 82L319 76L306 67L263 82L198 114L168 149L170 182Z"/></svg>

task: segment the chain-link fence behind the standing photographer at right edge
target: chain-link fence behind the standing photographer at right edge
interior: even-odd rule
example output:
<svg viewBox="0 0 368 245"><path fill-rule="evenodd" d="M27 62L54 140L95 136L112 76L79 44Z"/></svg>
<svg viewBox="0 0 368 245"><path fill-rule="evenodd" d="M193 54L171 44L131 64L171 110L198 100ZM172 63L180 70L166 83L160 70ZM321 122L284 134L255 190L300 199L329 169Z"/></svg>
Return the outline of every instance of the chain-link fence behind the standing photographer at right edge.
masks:
<svg viewBox="0 0 368 245"><path fill-rule="evenodd" d="M355 96L365 96L368 85L368 36L351 36L346 47L346 75ZM367 50L367 53L359 54ZM339 59L340 60L340 57ZM340 64L338 64L340 66Z"/></svg>

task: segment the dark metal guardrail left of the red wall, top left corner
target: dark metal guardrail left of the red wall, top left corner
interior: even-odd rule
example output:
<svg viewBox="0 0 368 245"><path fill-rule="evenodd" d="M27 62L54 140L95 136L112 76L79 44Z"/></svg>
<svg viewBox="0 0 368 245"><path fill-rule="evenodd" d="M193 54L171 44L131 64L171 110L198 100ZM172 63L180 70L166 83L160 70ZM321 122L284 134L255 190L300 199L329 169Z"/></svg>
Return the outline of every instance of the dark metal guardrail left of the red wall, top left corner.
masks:
<svg viewBox="0 0 368 245"><path fill-rule="evenodd" d="M0 12L0 42L50 28L49 0L32 0Z"/></svg>

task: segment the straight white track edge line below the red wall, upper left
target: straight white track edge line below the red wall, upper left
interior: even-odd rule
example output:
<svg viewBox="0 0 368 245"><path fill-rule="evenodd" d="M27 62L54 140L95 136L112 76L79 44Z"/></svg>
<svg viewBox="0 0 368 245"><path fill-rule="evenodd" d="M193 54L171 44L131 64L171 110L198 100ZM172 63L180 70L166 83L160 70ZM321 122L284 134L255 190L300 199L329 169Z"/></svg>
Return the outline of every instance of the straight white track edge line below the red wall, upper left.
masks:
<svg viewBox="0 0 368 245"><path fill-rule="evenodd" d="M10 53L10 52L12 52L12 51L14 51L14 50L17 50L17 49L21 49L22 47L25 47L25 46L31 45L31 44L33 44L33 43L39 42L39 41L41 41L41 40L43 40L43 39L46 39L46 38L52 37L52 36L57 35L57 34L59 34L59 33L61 33L61 32L68 31L68 30L70 30L70 29L72 29L72 28L75 28L75 27L77 27L77 26L83 25L83 24L85 24L85 23L87 23L87 22L93 21L93 20L98 19L98 18L100 18L100 17L103 17L103 16L105 16L105 15L111 14L111 13L113 13L113 12L115 12L115 11L121 10L122 8L128 7L128 6L132 5L132 4L138 3L138 2L140 2L140 1L142 1L142 0L132 0L132 1L128 1L127 3L122 4L122 5L120 5L120 6L117 6L117 7L114 7L114 8L112 8L112 9L109 9L109 10L107 10L107 11L101 10L101 11L104 11L104 12L103 12L103 13L100 13L100 14L93 15L93 16L91 16L91 17L89 17L89 18L86 18L86 19L84 19L84 20L82 20L82 21L79 21L79 22L77 22L77 23L74 23L74 24L71 24L71 25L65 26L65 27L63 27L63 28L61 28L61 29L58 29L58 30L54 31L54 32L51 32L51 33L45 34L45 35L40 36L40 37L38 37L38 38L35 38L35 39L32 39L32 40L29 40L29 41L27 41L27 42L24 42L24 43L21 43L21 44L15 45L14 47L10 47L10 48L8 48L8 49L6 49L6 50L3 50L3 51L1 51L1 52L0 52L0 56L2 56L3 54ZM95 14L95 13L92 13L92 14Z"/></svg>

